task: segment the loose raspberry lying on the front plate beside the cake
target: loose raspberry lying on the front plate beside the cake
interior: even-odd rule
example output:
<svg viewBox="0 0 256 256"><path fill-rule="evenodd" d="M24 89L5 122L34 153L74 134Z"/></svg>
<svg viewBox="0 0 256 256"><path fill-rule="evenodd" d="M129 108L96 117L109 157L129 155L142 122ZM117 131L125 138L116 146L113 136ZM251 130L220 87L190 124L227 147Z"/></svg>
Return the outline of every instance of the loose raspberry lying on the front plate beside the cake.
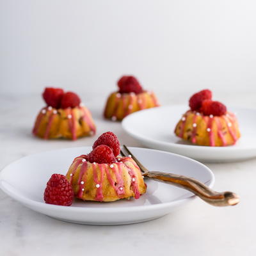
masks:
<svg viewBox="0 0 256 256"><path fill-rule="evenodd" d="M44 191L45 203L69 206L73 199L74 191L66 177L61 174L52 174Z"/></svg>

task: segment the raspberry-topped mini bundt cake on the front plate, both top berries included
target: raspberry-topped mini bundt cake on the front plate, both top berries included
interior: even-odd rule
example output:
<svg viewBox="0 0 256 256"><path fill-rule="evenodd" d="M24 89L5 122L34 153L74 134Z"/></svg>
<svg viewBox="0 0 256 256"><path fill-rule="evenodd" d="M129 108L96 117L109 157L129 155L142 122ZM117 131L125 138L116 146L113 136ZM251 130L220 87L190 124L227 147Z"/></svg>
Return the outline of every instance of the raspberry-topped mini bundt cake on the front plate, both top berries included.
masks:
<svg viewBox="0 0 256 256"><path fill-rule="evenodd" d="M95 141L90 154L74 159L66 177L77 198L112 202L122 198L138 199L146 192L138 165L131 157L118 157L119 152L115 134L106 132Z"/></svg>

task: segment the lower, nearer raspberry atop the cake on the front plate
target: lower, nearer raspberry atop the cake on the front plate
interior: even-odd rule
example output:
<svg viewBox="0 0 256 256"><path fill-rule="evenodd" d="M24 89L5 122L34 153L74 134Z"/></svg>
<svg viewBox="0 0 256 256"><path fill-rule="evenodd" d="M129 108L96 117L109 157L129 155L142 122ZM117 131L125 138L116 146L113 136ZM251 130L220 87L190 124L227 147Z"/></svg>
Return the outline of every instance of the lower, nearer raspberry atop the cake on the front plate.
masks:
<svg viewBox="0 0 256 256"><path fill-rule="evenodd" d="M116 157L107 145L99 145L88 154L88 160L90 163L111 164L116 161Z"/></svg>

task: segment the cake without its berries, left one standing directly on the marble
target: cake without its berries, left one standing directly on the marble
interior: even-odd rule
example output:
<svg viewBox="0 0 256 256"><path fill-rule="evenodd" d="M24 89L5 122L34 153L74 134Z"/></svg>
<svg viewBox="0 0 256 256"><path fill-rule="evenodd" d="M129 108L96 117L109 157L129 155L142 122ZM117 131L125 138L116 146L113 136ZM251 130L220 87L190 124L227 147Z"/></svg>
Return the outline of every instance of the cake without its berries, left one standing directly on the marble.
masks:
<svg viewBox="0 0 256 256"><path fill-rule="evenodd" d="M43 108L33 128L33 134L44 139L66 138L76 140L95 134L95 124L90 111L84 106L56 109Z"/></svg>

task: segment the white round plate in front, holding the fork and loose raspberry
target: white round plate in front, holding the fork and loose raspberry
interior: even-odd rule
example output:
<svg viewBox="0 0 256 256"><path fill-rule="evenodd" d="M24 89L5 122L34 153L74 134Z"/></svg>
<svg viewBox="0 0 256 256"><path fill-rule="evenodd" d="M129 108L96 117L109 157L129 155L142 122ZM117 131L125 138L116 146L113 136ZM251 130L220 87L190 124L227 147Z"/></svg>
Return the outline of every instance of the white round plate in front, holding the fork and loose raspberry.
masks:
<svg viewBox="0 0 256 256"><path fill-rule="evenodd" d="M90 150L91 147L64 148L23 157L0 173L1 189L34 211L59 220L89 225L120 225L153 220L195 197L184 189L146 180L147 193L138 200L108 203L75 200L69 207L45 204L44 189L52 173L65 174L74 157L87 154ZM188 175L210 187L214 184L211 170L193 159L147 148L131 147L131 150L150 170Z"/></svg>

